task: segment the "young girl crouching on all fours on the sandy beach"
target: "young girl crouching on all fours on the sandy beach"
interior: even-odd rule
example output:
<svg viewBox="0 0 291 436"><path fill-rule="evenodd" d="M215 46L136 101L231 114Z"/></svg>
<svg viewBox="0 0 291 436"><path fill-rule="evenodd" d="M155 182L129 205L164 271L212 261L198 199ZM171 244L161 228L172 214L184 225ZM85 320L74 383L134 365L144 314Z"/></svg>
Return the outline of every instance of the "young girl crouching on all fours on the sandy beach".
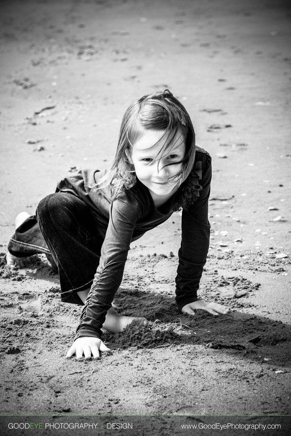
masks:
<svg viewBox="0 0 291 436"><path fill-rule="evenodd" d="M211 174L211 157L195 146L187 111L165 90L139 98L126 110L109 171L82 170L64 178L41 200L36 216L16 218L7 264L24 266L32 254L46 253L58 268L61 300L84 304L66 357L99 358L99 351L110 351L101 341L101 328L119 332L132 322L111 307L130 243L174 211L183 211L178 310L228 312L197 297L209 248Z"/></svg>

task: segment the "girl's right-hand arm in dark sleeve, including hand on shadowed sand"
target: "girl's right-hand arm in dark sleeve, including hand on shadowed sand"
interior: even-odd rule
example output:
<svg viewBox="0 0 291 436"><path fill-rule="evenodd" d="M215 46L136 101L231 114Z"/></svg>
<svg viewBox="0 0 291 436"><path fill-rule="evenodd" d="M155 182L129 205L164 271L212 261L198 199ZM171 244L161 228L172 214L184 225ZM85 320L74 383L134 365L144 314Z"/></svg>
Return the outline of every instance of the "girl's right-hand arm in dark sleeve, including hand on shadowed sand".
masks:
<svg viewBox="0 0 291 436"><path fill-rule="evenodd" d="M179 249L179 265L176 277L176 302L178 309L194 313L195 309L205 309L212 314L226 313L228 310L216 303L199 300L197 291L206 263L210 240L208 221L208 200L212 177L211 156L202 155L202 179L197 200L182 212L182 239Z"/></svg>

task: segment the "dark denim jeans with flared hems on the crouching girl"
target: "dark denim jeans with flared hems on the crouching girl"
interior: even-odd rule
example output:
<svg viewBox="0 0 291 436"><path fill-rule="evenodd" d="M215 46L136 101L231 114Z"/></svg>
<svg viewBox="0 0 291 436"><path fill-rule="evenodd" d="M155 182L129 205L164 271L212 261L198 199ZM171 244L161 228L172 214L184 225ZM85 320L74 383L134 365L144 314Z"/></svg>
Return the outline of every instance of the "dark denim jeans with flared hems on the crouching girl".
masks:
<svg viewBox="0 0 291 436"><path fill-rule="evenodd" d="M82 305L77 292L91 287L102 244L90 207L71 193L56 192L41 200L36 216L16 229L8 250L17 257L51 253L59 270L61 300Z"/></svg>

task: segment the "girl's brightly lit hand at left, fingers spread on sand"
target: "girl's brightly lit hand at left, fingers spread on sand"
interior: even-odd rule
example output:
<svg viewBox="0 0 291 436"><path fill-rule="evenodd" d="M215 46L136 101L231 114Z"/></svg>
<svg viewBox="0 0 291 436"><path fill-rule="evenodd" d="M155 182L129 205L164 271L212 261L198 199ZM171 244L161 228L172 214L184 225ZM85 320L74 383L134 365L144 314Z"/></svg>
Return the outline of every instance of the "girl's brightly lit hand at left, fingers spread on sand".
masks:
<svg viewBox="0 0 291 436"><path fill-rule="evenodd" d="M110 348L107 348L104 342L99 338L91 336L82 336L73 343L67 352L66 358L71 358L76 354L77 359L85 356L85 359L91 359L91 354L94 359L100 359L99 351L112 354Z"/></svg>

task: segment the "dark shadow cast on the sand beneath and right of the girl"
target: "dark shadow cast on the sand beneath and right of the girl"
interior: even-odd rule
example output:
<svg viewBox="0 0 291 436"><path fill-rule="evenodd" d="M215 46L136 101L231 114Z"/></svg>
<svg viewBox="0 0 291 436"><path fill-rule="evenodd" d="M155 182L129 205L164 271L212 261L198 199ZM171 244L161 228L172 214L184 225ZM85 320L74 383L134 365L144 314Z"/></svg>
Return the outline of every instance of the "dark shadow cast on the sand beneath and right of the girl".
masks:
<svg viewBox="0 0 291 436"><path fill-rule="evenodd" d="M150 323L148 327L140 327L138 323L131 325L115 335L105 332L103 340L113 348L195 343L239 353L250 360L267 362L276 369L290 367L291 326L281 321L240 311L221 316L202 310L194 316L178 314L173 296L123 288L119 289L114 303L121 314L143 316Z"/></svg>

